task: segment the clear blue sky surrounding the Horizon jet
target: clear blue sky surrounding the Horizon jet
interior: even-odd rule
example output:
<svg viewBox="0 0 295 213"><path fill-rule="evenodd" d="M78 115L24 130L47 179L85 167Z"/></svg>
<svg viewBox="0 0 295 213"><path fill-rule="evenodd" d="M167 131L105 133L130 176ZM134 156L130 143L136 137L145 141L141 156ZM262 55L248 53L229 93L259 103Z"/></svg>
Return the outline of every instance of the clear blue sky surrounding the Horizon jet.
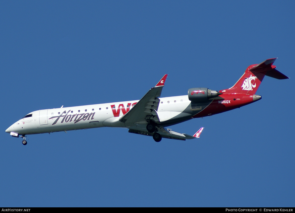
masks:
<svg viewBox="0 0 295 213"><path fill-rule="evenodd" d="M294 1L2 1L0 206L294 207ZM39 110L227 89L276 58L253 104L172 126L5 132Z"/></svg>

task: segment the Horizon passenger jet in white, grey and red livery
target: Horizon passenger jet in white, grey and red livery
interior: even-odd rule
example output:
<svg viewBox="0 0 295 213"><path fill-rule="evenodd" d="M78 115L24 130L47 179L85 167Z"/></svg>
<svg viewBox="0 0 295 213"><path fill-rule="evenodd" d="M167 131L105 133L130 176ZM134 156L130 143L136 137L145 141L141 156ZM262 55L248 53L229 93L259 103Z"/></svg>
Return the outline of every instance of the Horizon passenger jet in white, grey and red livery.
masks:
<svg viewBox="0 0 295 213"><path fill-rule="evenodd" d="M5 132L12 137L67 132L98 127L123 127L129 132L152 136L156 142L162 138L186 140L199 138L204 127L193 136L174 132L166 127L193 118L211 116L240 108L261 99L256 95L264 76L287 79L273 65L277 58L248 66L241 78L229 89L220 91L198 87L188 90L188 95L161 98L168 74L151 88L140 100L93 104L78 107L42 109L30 112L12 124Z"/></svg>

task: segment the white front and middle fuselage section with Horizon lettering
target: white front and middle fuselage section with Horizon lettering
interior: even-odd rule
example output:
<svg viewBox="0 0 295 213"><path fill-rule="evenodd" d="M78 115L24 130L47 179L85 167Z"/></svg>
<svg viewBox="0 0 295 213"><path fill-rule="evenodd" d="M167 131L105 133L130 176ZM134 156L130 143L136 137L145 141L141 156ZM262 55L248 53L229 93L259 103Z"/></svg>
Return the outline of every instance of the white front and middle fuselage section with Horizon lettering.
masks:
<svg viewBox="0 0 295 213"><path fill-rule="evenodd" d="M173 122L173 117L183 112L191 103L187 95L159 99L158 116L160 122L167 120ZM30 114L32 114L31 117L22 118L12 124L6 132L30 135L97 127L128 128L128 126L120 122L119 119L138 101L139 100L37 110L27 115L30 116ZM140 128L145 128L145 126L143 125Z"/></svg>

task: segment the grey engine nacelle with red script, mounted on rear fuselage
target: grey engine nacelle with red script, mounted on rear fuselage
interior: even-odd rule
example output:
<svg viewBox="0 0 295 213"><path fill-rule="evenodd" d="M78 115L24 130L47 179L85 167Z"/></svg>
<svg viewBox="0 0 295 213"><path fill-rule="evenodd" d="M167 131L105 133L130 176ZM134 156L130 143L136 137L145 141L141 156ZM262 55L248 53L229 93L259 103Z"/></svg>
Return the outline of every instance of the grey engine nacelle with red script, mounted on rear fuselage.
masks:
<svg viewBox="0 0 295 213"><path fill-rule="evenodd" d="M221 94L221 92L204 87L191 88L188 91L190 101L207 101L208 99L215 98Z"/></svg>

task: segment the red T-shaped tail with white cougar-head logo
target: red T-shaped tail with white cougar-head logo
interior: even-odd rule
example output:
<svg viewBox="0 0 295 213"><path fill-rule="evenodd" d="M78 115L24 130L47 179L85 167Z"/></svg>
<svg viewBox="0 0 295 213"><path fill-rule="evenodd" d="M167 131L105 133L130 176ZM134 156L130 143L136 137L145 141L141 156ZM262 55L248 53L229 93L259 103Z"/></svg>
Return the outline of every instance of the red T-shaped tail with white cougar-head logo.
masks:
<svg viewBox="0 0 295 213"><path fill-rule="evenodd" d="M222 93L242 93L255 94L264 76L270 76L277 79L287 79L283 73L276 70L273 62L277 58L267 59L260 64L250 65L242 77L229 89L220 90Z"/></svg>

